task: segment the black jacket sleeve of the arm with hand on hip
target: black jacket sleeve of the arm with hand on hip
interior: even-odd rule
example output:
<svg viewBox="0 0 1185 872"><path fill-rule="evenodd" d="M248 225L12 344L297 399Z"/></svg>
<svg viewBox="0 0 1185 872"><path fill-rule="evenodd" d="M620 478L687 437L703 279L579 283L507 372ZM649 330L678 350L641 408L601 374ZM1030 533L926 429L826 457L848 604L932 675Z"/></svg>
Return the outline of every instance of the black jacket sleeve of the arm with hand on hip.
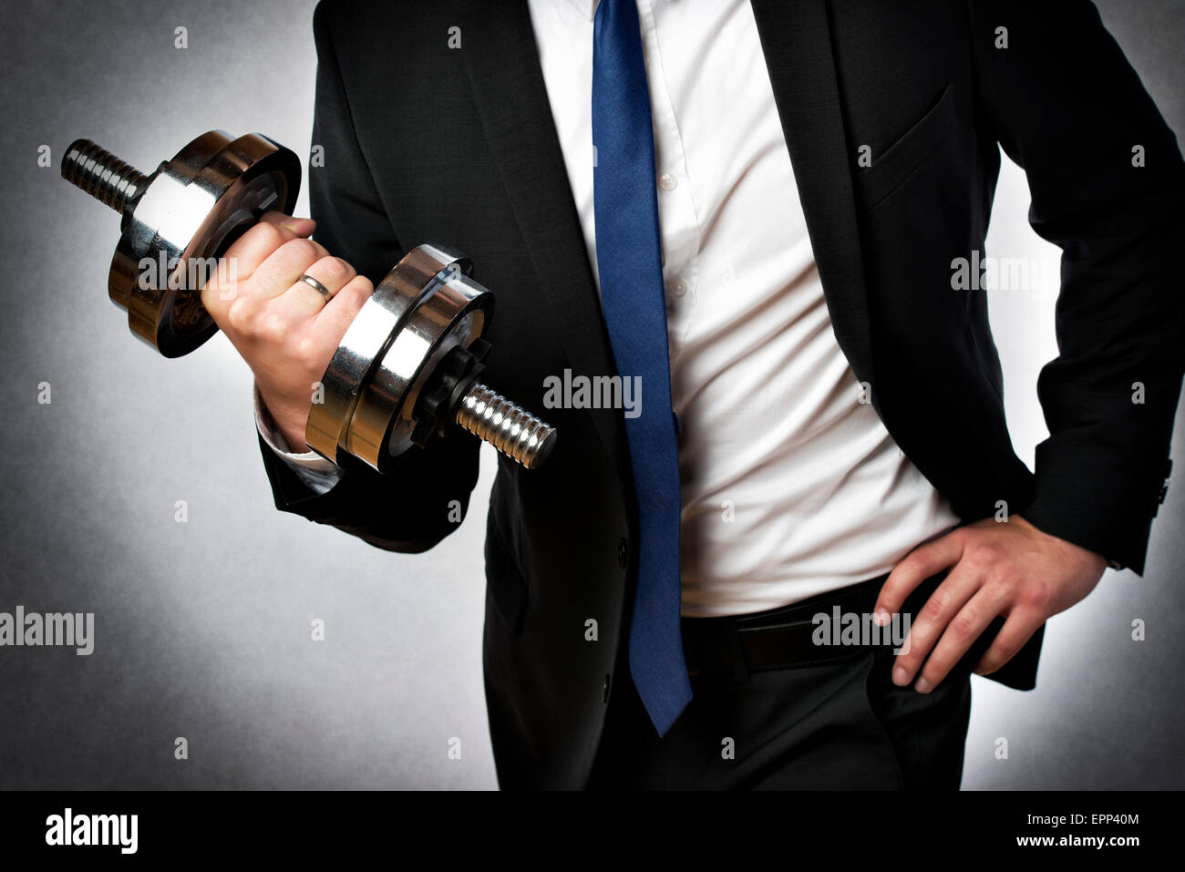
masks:
<svg viewBox="0 0 1185 872"><path fill-rule="evenodd" d="M968 9L980 123L1062 249L1058 355L1037 386L1050 436L1019 513L1142 573L1185 371L1180 150L1088 0Z"/></svg>

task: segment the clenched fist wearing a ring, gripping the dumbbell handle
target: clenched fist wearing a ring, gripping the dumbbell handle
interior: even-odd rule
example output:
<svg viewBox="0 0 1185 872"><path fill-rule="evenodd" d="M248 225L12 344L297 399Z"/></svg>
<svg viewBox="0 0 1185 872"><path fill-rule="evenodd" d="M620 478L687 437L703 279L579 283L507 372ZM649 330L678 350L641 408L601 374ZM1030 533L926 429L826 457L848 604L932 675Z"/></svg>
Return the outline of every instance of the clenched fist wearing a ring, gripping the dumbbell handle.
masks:
<svg viewBox="0 0 1185 872"><path fill-rule="evenodd" d="M201 303L251 367L276 427L297 451L306 449L314 387L374 290L308 238L315 226L312 218L268 212L226 250L201 290Z"/></svg>

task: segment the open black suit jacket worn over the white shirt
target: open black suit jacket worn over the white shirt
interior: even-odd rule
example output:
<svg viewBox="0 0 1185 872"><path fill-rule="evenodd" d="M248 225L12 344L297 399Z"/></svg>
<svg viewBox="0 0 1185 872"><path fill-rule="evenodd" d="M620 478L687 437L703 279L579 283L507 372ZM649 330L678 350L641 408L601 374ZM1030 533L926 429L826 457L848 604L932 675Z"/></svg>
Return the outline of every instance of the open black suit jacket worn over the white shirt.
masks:
<svg viewBox="0 0 1185 872"><path fill-rule="evenodd" d="M1142 571L1185 368L1185 175L1094 6L752 5L834 332L897 444L963 519L1005 500ZM324 0L314 33L318 238L374 280L428 239L469 255L497 295L488 380L534 411L546 376L613 373L526 4ZM1032 226L1064 252L1036 474L1008 438L986 295L952 289L952 261L984 249L997 143L1029 173ZM546 417L555 454L533 472L500 457L486 520L502 787L583 786L608 694L630 680L617 672L636 531L623 421ZM478 476L478 442L460 430L385 477L352 468L324 495L261 448L280 509L392 551L455 530L449 504L467 506ZM1032 687L1039 646L1040 634L995 678Z"/></svg>

